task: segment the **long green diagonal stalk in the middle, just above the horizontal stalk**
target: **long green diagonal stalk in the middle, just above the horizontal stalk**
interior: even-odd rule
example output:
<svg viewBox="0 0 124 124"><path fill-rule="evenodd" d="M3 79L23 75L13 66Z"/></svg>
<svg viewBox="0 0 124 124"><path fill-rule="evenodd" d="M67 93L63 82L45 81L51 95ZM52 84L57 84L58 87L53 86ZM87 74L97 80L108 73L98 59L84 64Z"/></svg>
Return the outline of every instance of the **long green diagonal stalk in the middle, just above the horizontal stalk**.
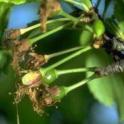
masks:
<svg viewBox="0 0 124 124"><path fill-rule="evenodd" d="M53 64L53 65L47 67L44 71L47 72L48 70L54 69L54 68L56 68L57 66L59 66L59 65L61 65L61 64L63 64L63 63L65 63L65 62L67 62L67 61L69 61L69 60L75 58L76 56L79 56L79 55L81 55L82 53L84 53L84 52L86 52L86 51L88 51L88 50L91 50L91 49L92 49L91 46L82 48L81 50L78 50L78 51L72 53L71 55L65 57L64 59L62 59L62 60L56 62L55 64Z"/></svg>

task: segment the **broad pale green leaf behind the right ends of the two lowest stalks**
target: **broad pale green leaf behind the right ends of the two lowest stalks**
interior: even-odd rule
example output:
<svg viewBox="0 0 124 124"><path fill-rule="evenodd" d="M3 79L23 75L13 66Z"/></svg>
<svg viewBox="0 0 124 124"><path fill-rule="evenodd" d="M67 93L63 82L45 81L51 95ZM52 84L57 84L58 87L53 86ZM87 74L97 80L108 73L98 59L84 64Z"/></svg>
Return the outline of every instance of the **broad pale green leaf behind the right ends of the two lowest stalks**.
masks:
<svg viewBox="0 0 124 124"><path fill-rule="evenodd" d="M87 54L86 67L105 66L110 63L108 60L108 56L104 51L92 50ZM90 73L87 73L87 76L89 74ZM88 83L88 87L94 97L105 105L111 105L114 101L110 82L111 77L104 77L92 80Z"/></svg>

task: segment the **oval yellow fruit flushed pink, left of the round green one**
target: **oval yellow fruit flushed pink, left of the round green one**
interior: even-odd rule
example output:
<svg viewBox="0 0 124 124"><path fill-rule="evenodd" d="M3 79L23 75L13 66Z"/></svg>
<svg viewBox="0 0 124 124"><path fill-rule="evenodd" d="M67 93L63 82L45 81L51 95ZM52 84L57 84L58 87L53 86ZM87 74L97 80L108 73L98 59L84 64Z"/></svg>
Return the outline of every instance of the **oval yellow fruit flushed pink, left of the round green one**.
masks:
<svg viewBox="0 0 124 124"><path fill-rule="evenodd" d="M22 83L26 86L36 87L41 83L40 72L29 72L22 77Z"/></svg>

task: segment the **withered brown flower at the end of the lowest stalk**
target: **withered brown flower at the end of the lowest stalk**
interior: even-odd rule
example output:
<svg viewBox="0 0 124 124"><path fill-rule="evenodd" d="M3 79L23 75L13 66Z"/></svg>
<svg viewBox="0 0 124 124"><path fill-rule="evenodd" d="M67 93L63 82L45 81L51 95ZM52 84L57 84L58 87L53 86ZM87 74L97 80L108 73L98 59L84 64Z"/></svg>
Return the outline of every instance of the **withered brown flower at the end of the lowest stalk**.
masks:
<svg viewBox="0 0 124 124"><path fill-rule="evenodd" d="M33 109L38 114L43 114L44 109L49 106L55 105L60 102L60 99L56 99L61 95L61 89L58 86L53 87L38 87L31 89L29 92L29 98L33 104Z"/></svg>

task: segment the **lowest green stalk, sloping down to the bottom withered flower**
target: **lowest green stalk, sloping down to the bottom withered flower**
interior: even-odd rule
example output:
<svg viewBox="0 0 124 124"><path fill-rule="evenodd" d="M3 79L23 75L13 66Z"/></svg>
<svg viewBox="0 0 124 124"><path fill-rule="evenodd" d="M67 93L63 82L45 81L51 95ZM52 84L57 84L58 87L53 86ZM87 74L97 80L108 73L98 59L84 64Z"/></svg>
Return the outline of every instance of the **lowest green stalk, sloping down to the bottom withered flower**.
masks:
<svg viewBox="0 0 124 124"><path fill-rule="evenodd" d="M96 78L96 74L93 74L90 77L84 79L83 81L80 81L76 84L68 86L68 87L66 87L66 92L69 93L70 91L75 90L76 88L83 86L84 84L86 84L87 82L89 82L95 78Z"/></svg>

